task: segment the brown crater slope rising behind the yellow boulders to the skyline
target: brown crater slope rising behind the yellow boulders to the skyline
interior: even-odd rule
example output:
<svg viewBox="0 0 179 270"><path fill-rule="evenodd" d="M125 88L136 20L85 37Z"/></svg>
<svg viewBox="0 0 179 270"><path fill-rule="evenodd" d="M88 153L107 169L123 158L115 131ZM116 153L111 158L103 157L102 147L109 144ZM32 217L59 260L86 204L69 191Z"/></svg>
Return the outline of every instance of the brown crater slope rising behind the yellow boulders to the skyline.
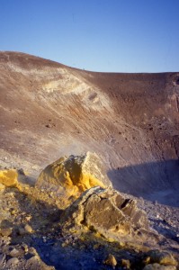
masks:
<svg viewBox="0 0 179 270"><path fill-rule="evenodd" d="M89 72L5 51L0 69L1 151L14 166L36 177L90 150L117 190L179 205L179 73Z"/></svg>

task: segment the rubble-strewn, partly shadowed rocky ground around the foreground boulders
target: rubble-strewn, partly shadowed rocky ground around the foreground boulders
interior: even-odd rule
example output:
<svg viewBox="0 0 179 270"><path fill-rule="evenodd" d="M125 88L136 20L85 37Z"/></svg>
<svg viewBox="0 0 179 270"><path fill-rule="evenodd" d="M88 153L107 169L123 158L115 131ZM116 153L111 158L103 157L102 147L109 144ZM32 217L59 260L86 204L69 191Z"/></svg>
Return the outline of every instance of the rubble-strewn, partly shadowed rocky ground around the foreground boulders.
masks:
<svg viewBox="0 0 179 270"><path fill-rule="evenodd" d="M177 208L135 198L139 208L148 213L149 227L155 235L152 247L142 234L142 241L134 243L130 238L102 237L94 229L63 229L60 220L65 210L58 197L22 184L28 182L22 170L19 179L18 187L0 186L1 269L143 269L154 263L158 268L151 269L176 269ZM155 255L151 250L157 250L153 251Z"/></svg>

